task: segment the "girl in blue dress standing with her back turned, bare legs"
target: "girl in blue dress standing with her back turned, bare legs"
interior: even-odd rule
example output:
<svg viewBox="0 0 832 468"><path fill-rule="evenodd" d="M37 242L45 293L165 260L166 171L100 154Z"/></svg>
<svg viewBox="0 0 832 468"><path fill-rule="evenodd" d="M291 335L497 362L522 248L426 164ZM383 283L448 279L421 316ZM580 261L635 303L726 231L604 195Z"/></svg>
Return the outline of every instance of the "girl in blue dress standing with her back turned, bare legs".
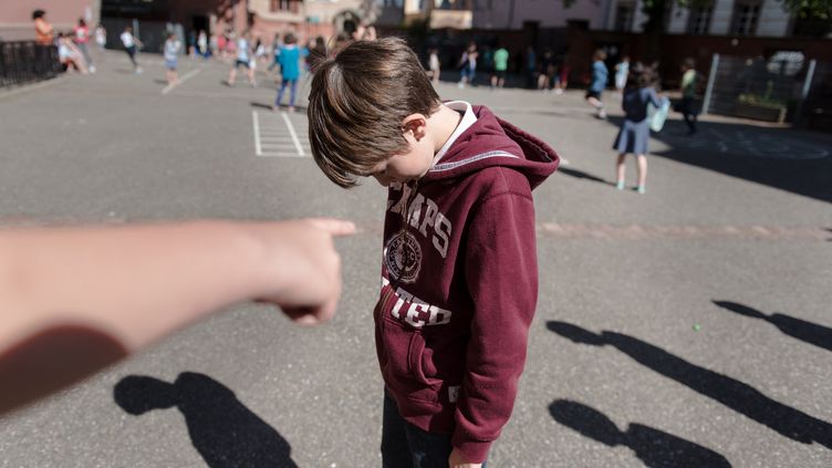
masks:
<svg viewBox="0 0 832 468"><path fill-rule="evenodd" d="M622 96L622 108L625 116L621 123L618 136L615 138L613 149L618 152L618 159L615 164L616 184L615 188L624 189L625 170L624 165L627 153L636 156L638 167L638 184L635 190L638 194L646 191L645 183L647 181L647 143L649 142L649 119L647 118L647 105L653 104L661 107L662 102L653 89L653 71L649 67L637 66L630 74L624 95Z"/></svg>

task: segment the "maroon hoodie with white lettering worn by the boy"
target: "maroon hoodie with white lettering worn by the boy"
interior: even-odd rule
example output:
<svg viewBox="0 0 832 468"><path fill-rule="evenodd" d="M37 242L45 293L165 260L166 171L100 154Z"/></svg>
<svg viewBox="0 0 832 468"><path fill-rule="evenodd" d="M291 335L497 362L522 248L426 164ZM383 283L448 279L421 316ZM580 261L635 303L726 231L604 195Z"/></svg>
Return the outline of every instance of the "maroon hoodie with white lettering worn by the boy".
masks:
<svg viewBox="0 0 832 468"><path fill-rule="evenodd" d="M489 110L474 113L422 179L389 189L374 316L402 416L453 434L481 462L511 416L538 298L531 190L559 157Z"/></svg>

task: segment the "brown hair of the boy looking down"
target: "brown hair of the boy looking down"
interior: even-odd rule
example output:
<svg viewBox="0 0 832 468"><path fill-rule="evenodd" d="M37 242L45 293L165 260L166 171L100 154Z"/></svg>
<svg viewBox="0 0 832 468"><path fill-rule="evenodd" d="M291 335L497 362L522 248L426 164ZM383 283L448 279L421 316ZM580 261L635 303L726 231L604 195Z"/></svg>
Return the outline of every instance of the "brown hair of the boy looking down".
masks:
<svg viewBox="0 0 832 468"><path fill-rule="evenodd" d="M418 58L397 38L356 41L314 66L309 96L312 156L341 187L407 150L402 121L426 117L439 96Z"/></svg>

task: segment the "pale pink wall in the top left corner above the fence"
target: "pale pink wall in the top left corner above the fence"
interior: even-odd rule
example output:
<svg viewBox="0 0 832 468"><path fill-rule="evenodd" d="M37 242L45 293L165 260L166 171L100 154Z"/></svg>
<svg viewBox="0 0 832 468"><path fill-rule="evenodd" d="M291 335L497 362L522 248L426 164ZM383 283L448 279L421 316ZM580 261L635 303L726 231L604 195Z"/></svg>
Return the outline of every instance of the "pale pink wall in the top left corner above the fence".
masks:
<svg viewBox="0 0 832 468"><path fill-rule="evenodd" d="M72 29L86 7L92 6L93 0L2 0L0 38L8 41L34 39L32 11L38 9L46 12L46 21L55 29Z"/></svg>

